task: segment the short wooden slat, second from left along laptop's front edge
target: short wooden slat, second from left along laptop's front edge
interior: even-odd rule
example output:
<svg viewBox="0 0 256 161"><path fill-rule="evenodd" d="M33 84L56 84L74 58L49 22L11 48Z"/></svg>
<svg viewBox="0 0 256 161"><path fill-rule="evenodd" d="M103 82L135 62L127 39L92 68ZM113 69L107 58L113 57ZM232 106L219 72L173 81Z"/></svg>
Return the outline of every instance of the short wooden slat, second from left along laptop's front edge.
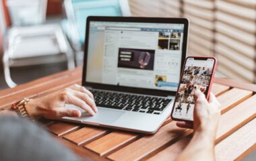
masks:
<svg viewBox="0 0 256 161"><path fill-rule="evenodd" d="M63 136L63 138L77 144L81 145L95 138L99 138L107 133L106 129L100 129L96 127L83 127L82 129L78 129L73 133L67 134L67 136Z"/></svg>

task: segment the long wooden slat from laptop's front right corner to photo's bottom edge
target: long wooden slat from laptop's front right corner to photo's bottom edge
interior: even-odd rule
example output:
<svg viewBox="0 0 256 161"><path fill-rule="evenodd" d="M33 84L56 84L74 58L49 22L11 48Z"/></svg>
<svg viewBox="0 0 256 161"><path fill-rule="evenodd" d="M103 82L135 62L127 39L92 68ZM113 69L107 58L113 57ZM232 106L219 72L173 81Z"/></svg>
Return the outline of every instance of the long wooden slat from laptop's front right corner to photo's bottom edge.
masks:
<svg viewBox="0 0 256 161"><path fill-rule="evenodd" d="M146 156L165 148L168 144L176 142L186 134L187 129L177 127L176 122L172 121L164 125L153 136L145 136L135 142L125 146L121 150L110 154L110 160L140 160Z"/></svg>

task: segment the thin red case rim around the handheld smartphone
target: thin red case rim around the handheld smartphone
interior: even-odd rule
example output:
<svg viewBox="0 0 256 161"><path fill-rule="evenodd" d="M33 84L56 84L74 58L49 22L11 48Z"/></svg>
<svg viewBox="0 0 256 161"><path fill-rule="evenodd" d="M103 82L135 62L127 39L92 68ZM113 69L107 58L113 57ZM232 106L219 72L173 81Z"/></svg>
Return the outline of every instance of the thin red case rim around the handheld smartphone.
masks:
<svg viewBox="0 0 256 161"><path fill-rule="evenodd" d="M217 63L218 63L218 60L214 57L214 56L188 56L186 59L185 59L185 63L183 65L183 70L181 72L181 78L180 78L180 81L179 81L179 87L177 89L177 93L176 93L176 96L175 96L175 99L174 99L174 103L173 103L173 107L172 107L172 112L170 113L170 118L172 118L172 120L174 121L186 121L186 122L193 122L193 121L189 121L189 120L186 120L186 119L177 119L177 118L174 118L172 117L172 113L174 111L174 105L175 105L175 102L176 102L176 98L177 98L177 95L178 95L178 91L179 91L179 88L180 88L180 85L181 85L181 79L183 78L183 71L185 69L185 65L186 65L186 62L187 62L187 59L188 58L212 58L214 59L214 68L212 69L212 76L210 78L210 83L209 83L209 89L207 91L207 95L206 95L206 99L209 99L210 97L210 91L212 89L212 83L213 83L213 79L214 79L214 75L215 75L215 72L216 72L216 66L217 66Z"/></svg>

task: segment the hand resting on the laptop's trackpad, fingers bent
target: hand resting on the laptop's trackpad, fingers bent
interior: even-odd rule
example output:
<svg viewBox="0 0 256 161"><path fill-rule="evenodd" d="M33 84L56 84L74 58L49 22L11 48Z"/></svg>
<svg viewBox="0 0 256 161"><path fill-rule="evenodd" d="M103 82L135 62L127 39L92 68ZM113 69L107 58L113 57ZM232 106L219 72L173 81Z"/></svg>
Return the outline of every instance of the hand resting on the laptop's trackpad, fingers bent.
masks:
<svg viewBox="0 0 256 161"><path fill-rule="evenodd" d="M80 107L90 115L95 115L98 111L92 93L80 85L72 85L51 95L31 100L26 107L30 117L60 119L61 117L81 116L81 112L77 109L65 109L66 104Z"/></svg>

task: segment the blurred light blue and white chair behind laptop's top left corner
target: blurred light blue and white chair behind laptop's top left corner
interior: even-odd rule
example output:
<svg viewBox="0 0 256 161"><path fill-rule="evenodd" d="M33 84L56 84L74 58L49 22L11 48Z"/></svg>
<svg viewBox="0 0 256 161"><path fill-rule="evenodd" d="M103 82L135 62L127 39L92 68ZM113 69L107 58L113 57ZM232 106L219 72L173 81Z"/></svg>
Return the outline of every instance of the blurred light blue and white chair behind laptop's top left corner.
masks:
<svg viewBox="0 0 256 161"><path fill-rule="evenodd" d="M84 58L84 39L86 36L86 18L90 15L130 16L128 0L65 0L67 19L63 21L63 30L75 50L76 60Z"/></svg>

